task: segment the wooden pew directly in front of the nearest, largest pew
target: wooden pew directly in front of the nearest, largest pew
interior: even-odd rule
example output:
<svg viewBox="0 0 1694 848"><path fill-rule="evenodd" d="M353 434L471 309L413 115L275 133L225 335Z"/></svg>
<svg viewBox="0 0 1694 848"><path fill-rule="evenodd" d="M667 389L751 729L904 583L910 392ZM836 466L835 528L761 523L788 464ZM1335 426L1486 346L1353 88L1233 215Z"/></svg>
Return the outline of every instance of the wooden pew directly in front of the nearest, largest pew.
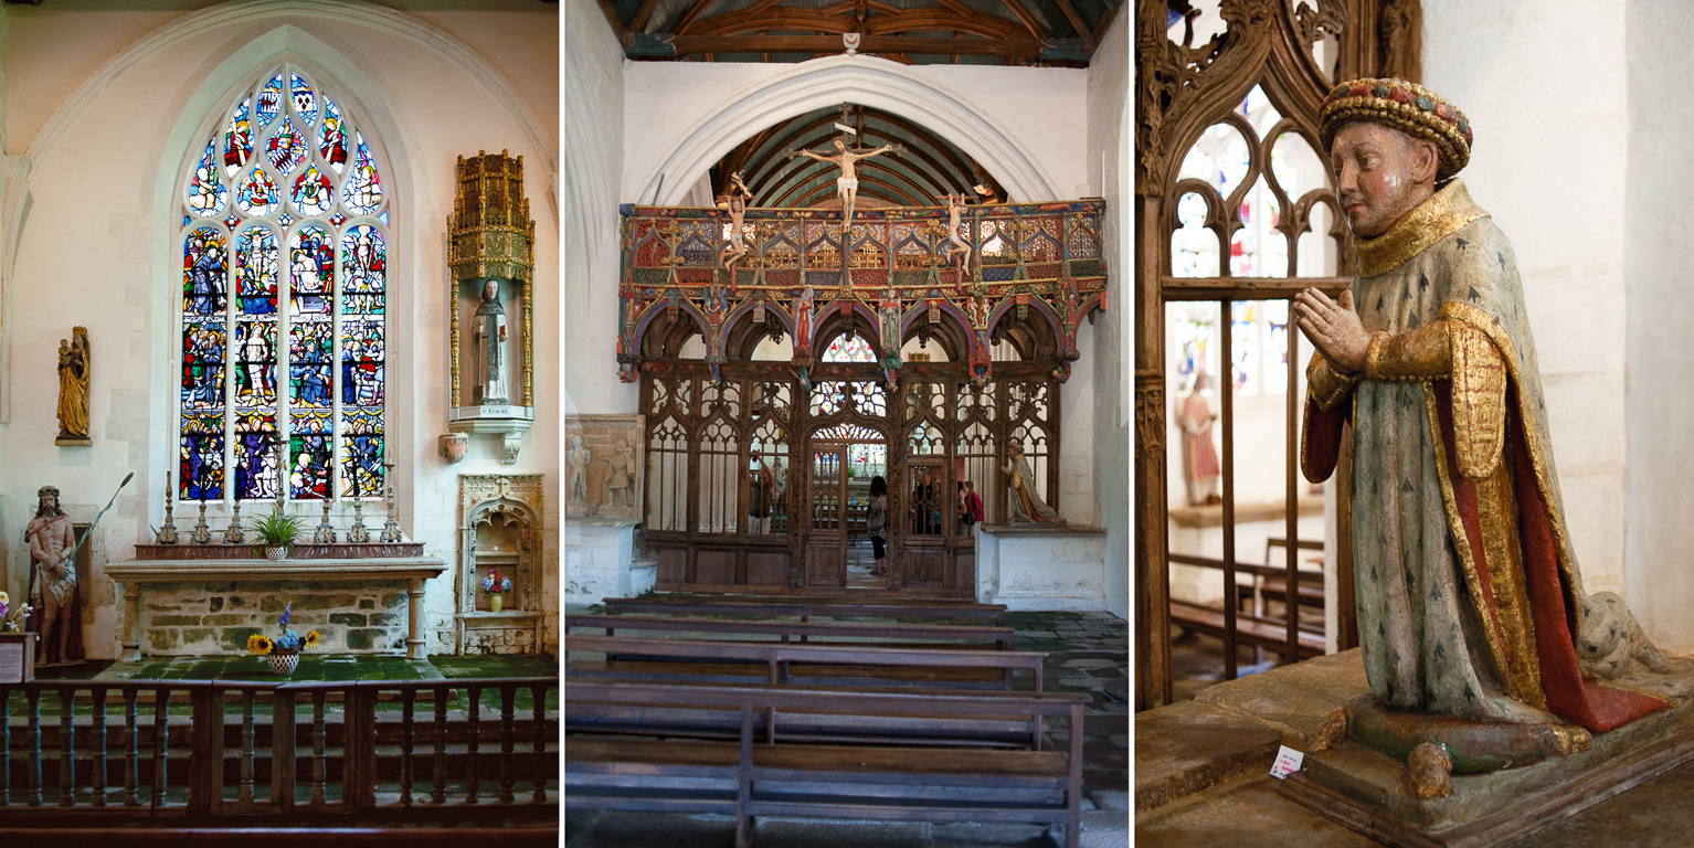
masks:
<svg viewBox="0 0 1694 848"><path fill-rule="evenodd" d="M1005 689L1013 674L1035 675L1042 691L1047 653L959 648L877 648L781 642L696 642L667 638L564 638L566 672L574 679L678 684L820 684L927 689ZM571 658L605 653L603 660Z"/></svg>

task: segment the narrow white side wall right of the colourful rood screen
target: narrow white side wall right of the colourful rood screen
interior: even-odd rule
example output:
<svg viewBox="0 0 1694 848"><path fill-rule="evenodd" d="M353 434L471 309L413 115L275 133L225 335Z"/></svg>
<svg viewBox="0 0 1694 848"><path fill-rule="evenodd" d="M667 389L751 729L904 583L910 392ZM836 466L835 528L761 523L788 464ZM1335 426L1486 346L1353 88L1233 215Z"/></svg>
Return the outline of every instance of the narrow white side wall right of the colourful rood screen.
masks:
<svg viewBox="0 0 1694 848"><path fill-rule="evenodd" d="M1130 300L1130 29L1135 15L1120 14L1106 29L1088 64L1088 168L1091 184L1106 198L1101 220L1103 256L1108 262L1106 310L1089 332L1091 347L1079 347L1094 361L1094 493L1099 526L1106 528L1106 609L1130 618L1130 350L1133 303ZM1066 433L1069 438L1069 433Z"/></svg>

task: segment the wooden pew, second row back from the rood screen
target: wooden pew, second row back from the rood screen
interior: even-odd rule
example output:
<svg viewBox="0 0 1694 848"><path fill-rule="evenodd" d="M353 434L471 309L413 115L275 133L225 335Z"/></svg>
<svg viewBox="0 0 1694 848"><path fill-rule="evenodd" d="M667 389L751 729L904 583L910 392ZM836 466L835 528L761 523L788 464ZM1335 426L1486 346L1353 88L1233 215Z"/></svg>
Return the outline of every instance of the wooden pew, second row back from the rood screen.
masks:
<svg viewBox="0 0 1694 848"><path fill-rule="evenodd" d="M888 625L859 621L745 621L725 618L596 616L567 614L564 630L618 633L713 633L725 636L771 636L801 645L864 645L874 648L993 648L1013 650L1016 631L993 626ZM711 636L717 638L717 636ZM874 640L874 642L867 642Z"/></svg>

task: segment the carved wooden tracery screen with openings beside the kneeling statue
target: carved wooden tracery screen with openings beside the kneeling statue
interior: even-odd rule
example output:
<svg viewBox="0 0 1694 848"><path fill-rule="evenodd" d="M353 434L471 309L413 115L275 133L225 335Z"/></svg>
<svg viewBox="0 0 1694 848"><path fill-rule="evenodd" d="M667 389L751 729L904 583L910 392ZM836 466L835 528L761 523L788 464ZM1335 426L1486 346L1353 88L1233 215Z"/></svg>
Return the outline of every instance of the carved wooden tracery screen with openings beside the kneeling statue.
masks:
<svg viewBox="0 0 1694 848"><path fill-rule="evenodd" d="M1301 591L1298 567L1321 533L1315 520L1301 528L1318 496L1299 479L1309 350L1289 301L1304 288L1337 296L1354 259L1318 144L1318 107L1345 80L1416 80L1418 25L1416 0L1138 2L1137 709L1172 697L1172 625L1220 633L1225 677L1237 675L1238 645L1287 660L1311 652L1296 614L1311 584ZM1196 391L1201 376L1215 403ZM1216 471L1204 447L1211 430ZM1343 457L1328 482L1342 537L1321 538L1338 565L1328 603L1343 648L1355 638L1345 471ZM1208 491L1208 476L1221 486ZM1221 503L1208 504L1208 494ZM1286 552L1272 577L1248 565L1260 545ZM1221 574L1221 609L1174 597L1201 586L1196 569L1211 581ZM1267 596L1281 597L1279 619L1259 613Z"/></svg>

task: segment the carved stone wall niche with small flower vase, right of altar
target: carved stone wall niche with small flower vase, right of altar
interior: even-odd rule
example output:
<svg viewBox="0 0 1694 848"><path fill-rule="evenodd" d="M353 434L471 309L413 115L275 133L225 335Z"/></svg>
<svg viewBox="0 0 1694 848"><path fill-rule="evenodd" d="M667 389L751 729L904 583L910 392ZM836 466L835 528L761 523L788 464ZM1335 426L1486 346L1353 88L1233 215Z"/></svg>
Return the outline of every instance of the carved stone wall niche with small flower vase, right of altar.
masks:
<svg viewBox="0 0 1694 848"><path fill-rule="evenodd" d="M535 653L542 645L542 476L459 477L459 562L454 572L456 652ZM483 577L512 579L498 613Z"/></svg>

